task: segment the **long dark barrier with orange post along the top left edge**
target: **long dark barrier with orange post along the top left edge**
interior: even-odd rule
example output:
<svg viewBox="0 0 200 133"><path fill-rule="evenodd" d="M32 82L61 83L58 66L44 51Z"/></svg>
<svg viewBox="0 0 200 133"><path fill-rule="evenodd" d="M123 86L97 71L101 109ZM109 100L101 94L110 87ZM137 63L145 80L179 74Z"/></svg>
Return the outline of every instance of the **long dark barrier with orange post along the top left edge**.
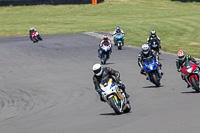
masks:
<svg viewBox="0 0 200 133"><path fill-rule="evenodd" d="M95 4L104 0L96 0ZM0 0L0 6L92 4L93 0Z"/></svg>

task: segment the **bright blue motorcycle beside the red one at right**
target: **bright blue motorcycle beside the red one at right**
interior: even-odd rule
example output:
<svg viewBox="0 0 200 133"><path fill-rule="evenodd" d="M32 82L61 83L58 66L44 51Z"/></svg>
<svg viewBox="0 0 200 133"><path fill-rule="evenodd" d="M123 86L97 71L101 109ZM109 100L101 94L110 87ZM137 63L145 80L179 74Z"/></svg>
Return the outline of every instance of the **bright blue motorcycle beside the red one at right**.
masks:
<svg viewBox="0 0 200 133"><path fill-rule="evenodd" d="M147 58L144 61L144 70L150 82L159 87L161 75L159 74L159 66L153 58Z"/></svg>

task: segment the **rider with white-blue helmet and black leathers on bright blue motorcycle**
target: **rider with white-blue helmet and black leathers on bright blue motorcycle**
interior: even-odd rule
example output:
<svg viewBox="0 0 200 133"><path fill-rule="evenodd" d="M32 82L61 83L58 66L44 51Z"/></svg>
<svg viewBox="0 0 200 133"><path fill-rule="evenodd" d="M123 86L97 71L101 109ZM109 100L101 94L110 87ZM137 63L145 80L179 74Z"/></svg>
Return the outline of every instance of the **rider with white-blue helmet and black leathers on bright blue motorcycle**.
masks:
<svg viewBox="0 0 200 133"><path fill-rule="evenodd" d="M158 64L158 66L160 66L158 73L161 77L163 75L163 72L161 71L162 64L158 61L158 55L156 54L156 52L154 50L149 48L148 44L143 44L142 51L138 55L138 65L141 69L141 71L140 71L141 74L144 74L144 61L147 58L154 58L155 62ZM146 75L146 74L144 74L144 75ZM149 80L148 77L146 79Z"/></svg>

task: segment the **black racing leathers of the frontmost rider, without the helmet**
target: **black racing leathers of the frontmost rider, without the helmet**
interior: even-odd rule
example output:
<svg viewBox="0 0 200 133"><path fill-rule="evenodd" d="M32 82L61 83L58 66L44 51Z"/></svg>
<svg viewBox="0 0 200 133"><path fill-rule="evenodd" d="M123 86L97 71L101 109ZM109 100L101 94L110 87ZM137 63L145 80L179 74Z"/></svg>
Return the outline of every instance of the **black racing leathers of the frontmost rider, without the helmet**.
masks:
<svg viewBox="0 0 200 133"><path fill-rule="evenodd" d="M104 101L104 99L100 92L100 83L107 78L112 78L118 84L119 88L124 91L126 97L127 98L129 97L129 95L125 92L125 85L120 80L120 73L116 70L113 70L112 68L103 67L102 74L100 76L97 75L93 76L93 83L95 85L95 90L98 92L101 101Z"/></svg>

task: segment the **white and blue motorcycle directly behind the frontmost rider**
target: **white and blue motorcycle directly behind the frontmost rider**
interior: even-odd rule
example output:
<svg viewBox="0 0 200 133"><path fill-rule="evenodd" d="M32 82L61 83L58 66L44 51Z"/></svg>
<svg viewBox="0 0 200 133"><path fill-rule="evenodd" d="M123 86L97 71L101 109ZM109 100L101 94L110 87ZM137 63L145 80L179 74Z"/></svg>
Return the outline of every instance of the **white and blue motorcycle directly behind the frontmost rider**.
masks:
<svg viewBox="0 0 200 133"><path fill-rule="evenodd" d="M106 64L107 60L110 58L111 47L105 44L102 45L103 46L100 49L99 58L101 64Z"/></svg>

